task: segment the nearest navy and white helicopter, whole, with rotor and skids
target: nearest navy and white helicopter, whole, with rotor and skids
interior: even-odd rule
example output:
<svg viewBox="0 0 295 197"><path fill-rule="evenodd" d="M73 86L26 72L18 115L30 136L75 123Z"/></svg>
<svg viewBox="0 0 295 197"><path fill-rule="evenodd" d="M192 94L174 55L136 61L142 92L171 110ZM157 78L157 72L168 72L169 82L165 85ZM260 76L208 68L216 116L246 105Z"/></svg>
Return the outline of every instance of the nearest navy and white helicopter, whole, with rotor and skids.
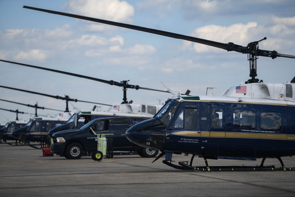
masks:
<svg viewBox="0 0 295 197"><path fill-rule="evenodd" d="M23 6L41 12L99 22L107 25L188 40L195 43L247 54L250 79L230 87L222 97L183 96L173 92L163 108L151 119L126 131L135 144L161 151L162 162L180 170L212 171L286 171L281 157L295 155L295 84L264 83L257 76L258 56L295 58L277 51L261 50L258 43L219 43L211 40L155 30L136 25ZM191 160L173 164L173 154L191 154ZM194 157L203 157L205 166L193 166ZM207 159L257 159L260 166L210 166ZM281 167L264 166L266 158L277 158Z"/></svg>

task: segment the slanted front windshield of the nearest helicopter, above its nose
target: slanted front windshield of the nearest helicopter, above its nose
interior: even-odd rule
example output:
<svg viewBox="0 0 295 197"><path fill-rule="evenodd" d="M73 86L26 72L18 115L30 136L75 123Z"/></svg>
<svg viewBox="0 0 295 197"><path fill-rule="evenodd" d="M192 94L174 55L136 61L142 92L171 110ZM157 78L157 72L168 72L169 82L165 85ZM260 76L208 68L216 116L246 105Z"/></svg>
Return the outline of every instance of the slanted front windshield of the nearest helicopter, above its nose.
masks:
<svg viewBox="0 0 295 197"><path fill-rule="evenodd" d="M154 116L154 118L158 118L161 123L163 123L164 126L168 126L168 123L170 122L171 118L173 117L176 108L177 108L177 100L171 100L168 101L161 109L160 111Z"/></svg>

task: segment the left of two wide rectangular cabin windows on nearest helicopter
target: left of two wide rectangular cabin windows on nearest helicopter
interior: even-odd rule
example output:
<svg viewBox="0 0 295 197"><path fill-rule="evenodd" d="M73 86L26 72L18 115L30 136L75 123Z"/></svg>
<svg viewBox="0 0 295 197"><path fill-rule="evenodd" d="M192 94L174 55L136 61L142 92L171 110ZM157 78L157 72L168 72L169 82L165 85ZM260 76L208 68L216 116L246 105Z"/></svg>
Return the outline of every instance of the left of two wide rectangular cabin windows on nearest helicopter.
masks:
<svg viewBox="0 0 295 197"><path fill-rule="evenodd" d="M246 110L235 110L233 112L234 128L254 129L255 113Z"/></svg>

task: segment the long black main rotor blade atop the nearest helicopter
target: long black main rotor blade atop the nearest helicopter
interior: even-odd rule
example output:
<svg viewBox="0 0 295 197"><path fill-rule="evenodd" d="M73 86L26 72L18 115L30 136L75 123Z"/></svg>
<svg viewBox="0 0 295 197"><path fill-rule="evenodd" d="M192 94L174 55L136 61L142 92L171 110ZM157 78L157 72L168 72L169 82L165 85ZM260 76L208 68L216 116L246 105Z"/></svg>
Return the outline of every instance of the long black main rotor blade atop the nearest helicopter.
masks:
<svg viewBox="0 0 295 197"><path fill-rule="evenodd" d="M120 22L114 22L114 21L109 21L109 20L86 17L86 16L77 15L77 14L58 12L58 11L30 7L30 6L23 6L23 8L33 9L33 10L37 10L37 11L41 11L41 12L48 12L51 14L58 14L58 15L63 15L63 16L67 16L67 17L73 17L73 18L83 19L83 20L88 20L88 21L93 21L93 22L99 22L99 23L113 25L113 26L117 26L117 27L124 27L124 28L128 28L128 29L153 33L153 34L157 34L157 35L163 35L166 37L171 37L171 38L176 38L176 39L181 39L181 40L188 40L188 41L195 42L195 43L200 43L200 44L204 44L204 45L209 45L209 46L221 48L221 49L224 49L227 51L236 51L239 53L248 53L248 54L253 53L253 50L252 50L252 48L250 48L250 45L249 45L250 43L248 44L248 46L236 45L234 43L219 43L219 42L215 42L212 40L206 40L206 39L191 37L191 36L187 36L187 35L181 35L181 34L177 34L177 33L151 29L151 28L147 28L147 27L140 27L137 25L130 25L130 24L125 24L125 23L120 23ZM271 58L276 58L276 57L295 58L295 56L291 56L291 55L278 54L276 51L266 51L266 50L260 50L260 49L258 49L257 56L264 56L264 57L271 57Z"/></svg>

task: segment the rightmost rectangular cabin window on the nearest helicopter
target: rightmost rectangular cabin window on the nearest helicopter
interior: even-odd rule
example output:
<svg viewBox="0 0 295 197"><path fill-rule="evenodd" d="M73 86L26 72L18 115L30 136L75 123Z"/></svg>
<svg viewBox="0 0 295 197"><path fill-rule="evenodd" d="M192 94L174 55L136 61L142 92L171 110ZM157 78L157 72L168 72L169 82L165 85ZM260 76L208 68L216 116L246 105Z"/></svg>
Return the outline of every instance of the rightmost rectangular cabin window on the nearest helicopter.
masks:
<svg viewBox="0 0 295 197"><path fill-rule="evenodd" d="M280 131L282 129L282 115L279 112L261 112L260 127L263 130Z"/></svg>

